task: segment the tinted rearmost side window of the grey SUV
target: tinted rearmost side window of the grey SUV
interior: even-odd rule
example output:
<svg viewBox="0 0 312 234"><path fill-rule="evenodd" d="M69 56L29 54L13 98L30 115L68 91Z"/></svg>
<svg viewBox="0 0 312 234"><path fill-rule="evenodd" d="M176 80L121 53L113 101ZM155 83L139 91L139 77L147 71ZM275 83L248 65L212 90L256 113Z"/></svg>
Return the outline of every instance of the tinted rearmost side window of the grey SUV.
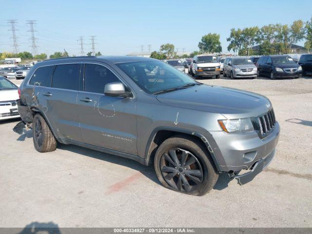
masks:
<svg viewBox="0 0 312 234"><path fill-rule="evenodd" d="M51 87L54 66L39 67L29 81L30 85Z"/></svg>

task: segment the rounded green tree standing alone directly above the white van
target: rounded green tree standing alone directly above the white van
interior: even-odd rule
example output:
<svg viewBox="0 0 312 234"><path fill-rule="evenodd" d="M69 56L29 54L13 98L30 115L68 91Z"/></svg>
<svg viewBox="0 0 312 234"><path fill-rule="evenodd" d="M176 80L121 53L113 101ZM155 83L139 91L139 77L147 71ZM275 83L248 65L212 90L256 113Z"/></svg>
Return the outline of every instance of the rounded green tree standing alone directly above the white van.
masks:
<svg viewBox="0 0 312 234"><path fill-rule="evenodd" d="M198 47L202 53L220 53L222 51L220 35L216 33L209 33L201 38Z"/></svg>

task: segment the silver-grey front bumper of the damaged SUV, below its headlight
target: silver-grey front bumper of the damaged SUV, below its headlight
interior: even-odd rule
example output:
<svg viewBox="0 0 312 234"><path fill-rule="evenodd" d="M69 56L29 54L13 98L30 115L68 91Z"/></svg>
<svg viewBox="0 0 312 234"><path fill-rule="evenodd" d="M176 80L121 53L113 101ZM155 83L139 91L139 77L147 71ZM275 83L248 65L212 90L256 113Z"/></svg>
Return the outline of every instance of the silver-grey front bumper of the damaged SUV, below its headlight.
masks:
<svg viewBox="0 0 312 234"><path fill-rule="evenodd" d="M276 122L271 134L260 139L257 132L231 134L223 131L210 132L215 139L214 153L222 159L222 172L238 172L250 169L254 163L272 154L279 138L279 124ZM221 161L221 160L220 160Z"/></svg>

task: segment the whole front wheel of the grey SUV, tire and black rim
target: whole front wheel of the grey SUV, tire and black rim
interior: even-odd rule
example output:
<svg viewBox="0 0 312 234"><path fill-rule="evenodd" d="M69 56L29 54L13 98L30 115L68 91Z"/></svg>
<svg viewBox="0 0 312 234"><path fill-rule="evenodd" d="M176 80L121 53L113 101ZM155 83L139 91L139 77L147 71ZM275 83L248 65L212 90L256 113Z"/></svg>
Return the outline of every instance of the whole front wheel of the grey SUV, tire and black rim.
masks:
<svg viewBox="0 0 312 234"><path fill-rule="evenodd" d="M170 152L173 151L177 157L172 156ZM183 156L185 154L186 157ZM215 186L218 178L208 149L193 137L177 135L162 142L155 154L154 167L164 187L184 194L205 195ZM170 170L173 170L172 173Z"/></svg>

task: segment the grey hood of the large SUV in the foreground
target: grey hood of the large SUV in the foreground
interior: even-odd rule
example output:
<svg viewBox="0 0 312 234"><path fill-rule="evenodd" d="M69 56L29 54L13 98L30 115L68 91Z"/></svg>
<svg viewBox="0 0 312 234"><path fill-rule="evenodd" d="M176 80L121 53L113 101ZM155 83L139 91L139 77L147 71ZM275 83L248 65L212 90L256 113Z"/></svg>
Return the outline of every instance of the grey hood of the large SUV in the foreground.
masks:
<svg viewBox="0 0 312 234"><path fill-rule="evenodd" d="M171 93L157 99L165 104L222 114L226 118L259 116L271 109L268 98L238 89L200 85Z"/></svg>

